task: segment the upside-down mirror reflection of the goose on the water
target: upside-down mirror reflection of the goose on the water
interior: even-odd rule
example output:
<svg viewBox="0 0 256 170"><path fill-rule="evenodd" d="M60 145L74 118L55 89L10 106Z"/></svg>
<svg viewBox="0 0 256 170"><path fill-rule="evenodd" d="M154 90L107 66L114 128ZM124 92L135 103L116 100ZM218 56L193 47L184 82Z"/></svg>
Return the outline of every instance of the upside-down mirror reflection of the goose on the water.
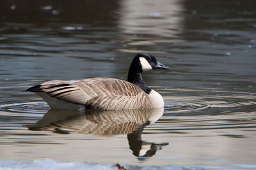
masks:
<svg viewBox="0 0 256 170"><path fill-rule="evenodd" d="M139 160L152 157L168 143L141 140L143 129L163 115L163 108L150 110L67 111L49 110L41 120L29 127L31 131L61 134L79 133L95 136L127 134L130 149Z"/></svg>

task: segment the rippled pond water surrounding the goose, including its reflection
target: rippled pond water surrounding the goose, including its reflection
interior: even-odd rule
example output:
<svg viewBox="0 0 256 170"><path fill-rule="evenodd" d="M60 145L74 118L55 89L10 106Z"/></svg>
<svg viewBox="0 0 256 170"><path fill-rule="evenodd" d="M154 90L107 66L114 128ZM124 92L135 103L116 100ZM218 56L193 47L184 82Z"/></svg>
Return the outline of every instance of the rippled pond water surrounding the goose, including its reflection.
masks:
<svg viewBox="0 0 256 170"><path fill-rule="evenodd" d="M1 2L0 169L255 169L254 6ZM138 52L170 67L143 74L164 111L49 111L22 92L47 80L125 80Z"/></svg>

